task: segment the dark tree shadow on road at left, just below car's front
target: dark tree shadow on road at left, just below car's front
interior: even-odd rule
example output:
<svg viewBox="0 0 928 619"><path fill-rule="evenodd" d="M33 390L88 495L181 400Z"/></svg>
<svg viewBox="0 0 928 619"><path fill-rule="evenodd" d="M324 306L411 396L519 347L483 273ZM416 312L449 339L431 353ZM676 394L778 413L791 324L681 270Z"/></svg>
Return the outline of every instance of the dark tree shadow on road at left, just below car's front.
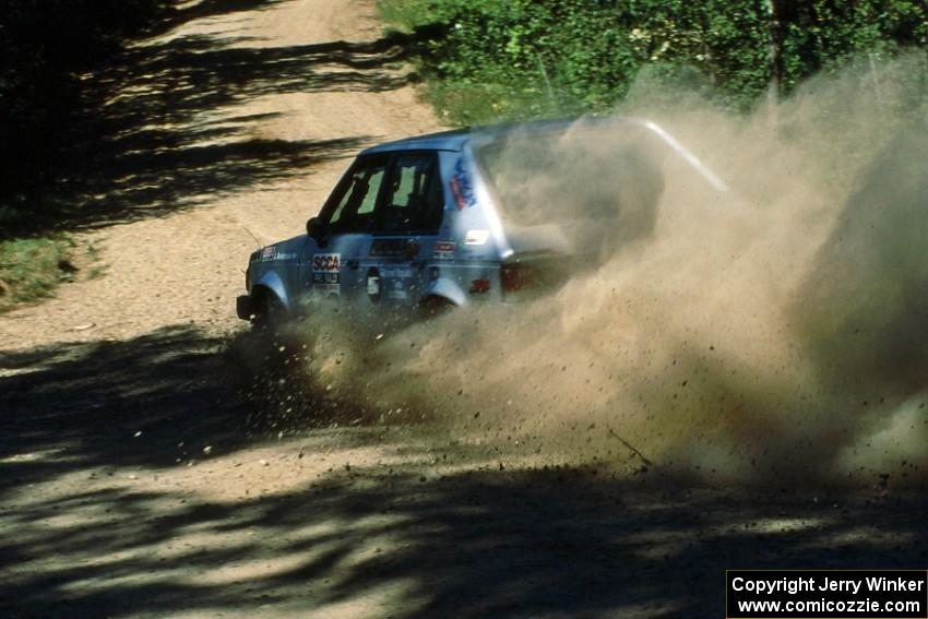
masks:
<svg viewBox="0 0 928 619"><path fill-rule="evenodd" d="M364 413L304 380L298 349L286 343L283 352L272 334L174 325L124 341L0 350L0 498L78 468L186 465L205 447L228 454Z"/></svg>

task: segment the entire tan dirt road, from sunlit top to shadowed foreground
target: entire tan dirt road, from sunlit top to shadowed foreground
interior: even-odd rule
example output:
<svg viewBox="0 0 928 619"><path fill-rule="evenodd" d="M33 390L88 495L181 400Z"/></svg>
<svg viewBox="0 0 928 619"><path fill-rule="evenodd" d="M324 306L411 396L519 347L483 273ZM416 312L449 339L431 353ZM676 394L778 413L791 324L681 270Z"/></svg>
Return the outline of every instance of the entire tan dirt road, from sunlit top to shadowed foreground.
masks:
<svg viewBox="0 0 928 619"><path fill-rule="evenodd" d="M288 395L255 394L233 316L248 253L298 234L345 156L439 123L372 1L186 11L90 78L142 115L97 197L112 219L80 237L105 274L0 318L0 615L718 617L725 568L926 564L924 497L264 416Z"/></svg>

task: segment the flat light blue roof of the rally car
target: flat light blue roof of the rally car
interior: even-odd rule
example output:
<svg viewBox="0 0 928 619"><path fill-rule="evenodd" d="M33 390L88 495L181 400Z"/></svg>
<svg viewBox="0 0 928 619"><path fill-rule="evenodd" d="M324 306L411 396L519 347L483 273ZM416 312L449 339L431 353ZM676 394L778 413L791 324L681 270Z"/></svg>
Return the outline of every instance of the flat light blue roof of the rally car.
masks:
<svg viewBox="0 0 928 619"><path fill-rule="evenodd" d="M361 155L377 153L390 153L394 151L461 151L464 144L475 134L489 140L505 139L511 133L547 133L551 131L566 130L579 118L556 118L548 120L532 120L527 122L507 122L501 124L489 124L485 127L466 127L452 131L439 133L427 133L413 138L404 138L392 142L378 144L361 151ZM631 119L621 117L583 117L586 123L629 121Z"/></svg>

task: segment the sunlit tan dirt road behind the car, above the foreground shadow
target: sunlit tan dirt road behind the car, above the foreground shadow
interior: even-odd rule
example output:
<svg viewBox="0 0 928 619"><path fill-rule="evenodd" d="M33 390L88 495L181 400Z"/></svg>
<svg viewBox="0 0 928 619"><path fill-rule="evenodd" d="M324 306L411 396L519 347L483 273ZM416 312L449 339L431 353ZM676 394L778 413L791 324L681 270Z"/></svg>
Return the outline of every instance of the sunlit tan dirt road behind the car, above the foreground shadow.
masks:
<svg viewBox="0 0 928 619"><path fill-rule="evenodd" d="M304 229L344 157L439 129L406 83L400 50L377 44L373 2L246 5L254 8L195 17L143 41L130 53L144 70L105 73L120 80L110 114L151 110L119 138L136 141L150 160L169 158L130 167L124 186L96 198L169 216L80 237L99 248L106 276L4 314L0 347L124 340L176 324L228 332L238 326L234 301L248 254ZM162 60L168 55L175 59Z"/></svg>

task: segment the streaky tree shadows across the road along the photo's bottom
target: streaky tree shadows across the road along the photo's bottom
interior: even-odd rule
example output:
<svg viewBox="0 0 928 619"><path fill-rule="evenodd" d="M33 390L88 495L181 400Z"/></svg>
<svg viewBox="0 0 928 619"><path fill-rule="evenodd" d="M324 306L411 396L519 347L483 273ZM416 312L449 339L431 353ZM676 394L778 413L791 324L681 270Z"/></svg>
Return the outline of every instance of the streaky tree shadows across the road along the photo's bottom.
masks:
<svg viewBox="0 0 928 619"><path fill-rule="evenodd" d="M58 561L8 581L0 608L717 617L727 568L912 568L924 564L928 541L924 497L867 505L659 491L582 469L432 478L358 469L283 497L181 497L87 492L8 512L19 535L3 545L4 564L51 549ZM105 517L74 517L100 505ZM68 513L78 524L67 531L40 526ZM100 560L81 566L87 557Z"/></svg>

